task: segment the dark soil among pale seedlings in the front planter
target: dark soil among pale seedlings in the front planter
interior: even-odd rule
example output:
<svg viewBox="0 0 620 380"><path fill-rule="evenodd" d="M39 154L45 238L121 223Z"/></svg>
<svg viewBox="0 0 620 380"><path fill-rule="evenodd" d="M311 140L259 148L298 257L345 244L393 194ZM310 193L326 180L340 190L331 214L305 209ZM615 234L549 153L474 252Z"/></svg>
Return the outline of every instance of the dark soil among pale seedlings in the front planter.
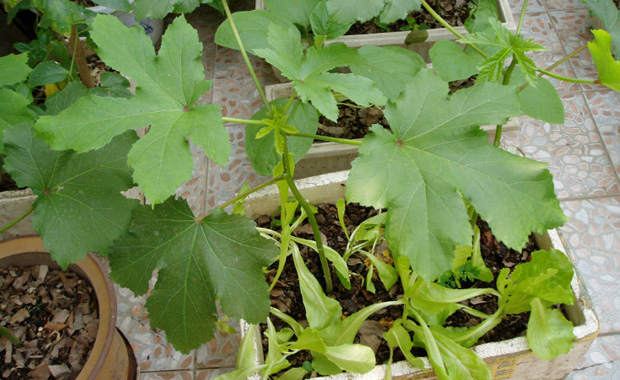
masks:
<svg viewBox="0 0 620 380"><path fill-rule="evenodd" d="M317 222L321 233L324 236L324 244L329 245L340 253L344 252L347 239L342 231L342 228L340 227L336 207L334 205L323 204L320 205L318 209ZM376 214L377 211L373 208L363 207L358 204L348 204L345 213L345 224L347 225L347 230L349 232L353 231L353 229L355 229L360 222ZM257 219L257 224L260 227L269 227L271 224L271 218L262 216ZM481 252L486 265L491 268L495 278L497 278L497 275L502 268L513 268L518 263L529 261L531 259L531 252L538 249L533 237L530 237L529 243L522 252L510 250L493 237L488 225L485 222L479 221L478 226L481 229ZM307 239L312 239L312 233L309 225L301 226L296 235ZM381 250L379 251L383 252ZM302 256L304 257L304 261L306 266L308 266L308 269L319 280L321 285L324 285L322 271L316 253L308 248L303 248ZM391 260L389 254L387 257L383 255L378 256L384 258L387 262ZM390 291L386 291L381 281L375 281L374 284L376 287L376 293L372 294L368 292L363 286L361 280L361 278L366 278L368 272L368 266L364 262L364 259L353 255L347 264L351 273L359 274L350 276L351 289L344 289L344 287L340 284L335 271L332 269L332 283L334 284L334 290L333 292L327 294L328 296L340 301L343 314L345 316L351 315L365 306L377 302L396 300L399 297L399 294L402 294L400 282L394 285ZM276 270L277 263L272 265L269 268L269 272L266 274L268 283L273 281ZM462 287L495 288L495 285L494 282L482 283L478 281L462 283ZM300 321L302 325L304 324L305 309L302 302L301 291L299 289L297 272L295 271L295 266L291 257L287 259L284 271L278 280L277 285L271 292L271 303L273 307L277 307L283 312L291 315L297 321ZM497 300L492 296L480 297L480 299L474 300L469 306L484 313L493 314L497 310ZM389 348L386 342L382 339L382 335L391 327L394 320L400 318L401 316L402 308L400 307L383 309L373 314L364 324L362 328L366 331L365 335L361 336L358 334L356 342L371 346L375 350L377 363L387 362L389 358ZM487 335L482 337L479 340L479 343L500 341L521 335L527 327L528 318L529 313L522 313L507 318L500 325L491 330ZM278 318L271 318L271 320L276 327L276 330L288 327ZM479 319L471 317L467 313L457 312L448 319L446 325L454 327L469 327L475 326L479 322ZM266 326L262 327L263 330L266 329ZM264 352L267 352L267 349L267 339L263 338ZM412 352L416 356L426 355L425 350L420 348L414 348ZM395 362L404 360L404 356L398 349L396 349L393 359ZM288 357L288 360L291 362L292 366L301 366L304 361L312 360L312 357L309 352L301 351Z"/></svg>

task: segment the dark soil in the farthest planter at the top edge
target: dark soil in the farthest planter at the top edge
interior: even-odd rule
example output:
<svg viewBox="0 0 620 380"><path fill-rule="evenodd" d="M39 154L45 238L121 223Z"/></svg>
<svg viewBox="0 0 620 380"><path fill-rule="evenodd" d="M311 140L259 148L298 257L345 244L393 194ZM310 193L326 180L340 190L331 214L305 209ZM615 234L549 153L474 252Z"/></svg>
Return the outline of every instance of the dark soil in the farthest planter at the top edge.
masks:
<svg viewBox="0 0 620 380"><path fill-rule="evenodd" d="M428 3L451 26L463 26L469 16L469 1L467 0L431 0ZM443 28L423 7L419 11L410 13L409 17L413 17L417 25L427 26L427 29ZM347 34L371 34L401 30L411 30L406 20L398 20L388 24L385 28L379 27L374 20L371 20L363 24L360 22L353 24Z"/></svg>

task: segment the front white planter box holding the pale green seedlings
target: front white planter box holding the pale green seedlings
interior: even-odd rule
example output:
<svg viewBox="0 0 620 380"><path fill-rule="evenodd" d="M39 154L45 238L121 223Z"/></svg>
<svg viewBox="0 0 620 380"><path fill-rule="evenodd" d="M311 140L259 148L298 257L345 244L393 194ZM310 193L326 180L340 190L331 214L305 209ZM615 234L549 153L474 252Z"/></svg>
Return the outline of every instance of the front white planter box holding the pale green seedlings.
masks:
<svg viewBox="0 0 620 380"><path fill-rule="evenodd" d="M323 202L335 203L338 198L344 198L345 182L348 172L331 173L322 176L305 178L296 181L304 197L313 204ZM252 194L245 202L245 210L250 218L262 214L273 214L280 205L278 191L274 187L265 188ZM556 230L550 230L544 235L536 234L536 241L542 249L559 249L566 253L565 244ZM570 258L570 256L569 256ZM575 273L571 283L575 294L575 304L567 305L567 318L575 325L573 333L577 337L574 347L568 354L560 355L553 360L541 360L532 353L525 337L517 337L503 342L486 343L473 347L476 352L491 368L494 379L563 379L579 363L598 334L598 320L594 314L590 298L578 273ZM241 321L242 334L247 333L249 325ZM260 336L254 339L259 357L257 364L262 362L262 344ZM407 362L398 362L392 365L394 379L436 379L427 358L422 358L426 370L411 367ZM385 376L385 365L376 366L371 372L363 375L342 373L321 379L331 380L377 380ZM255 375L251 380L260 379Z"/></svg>

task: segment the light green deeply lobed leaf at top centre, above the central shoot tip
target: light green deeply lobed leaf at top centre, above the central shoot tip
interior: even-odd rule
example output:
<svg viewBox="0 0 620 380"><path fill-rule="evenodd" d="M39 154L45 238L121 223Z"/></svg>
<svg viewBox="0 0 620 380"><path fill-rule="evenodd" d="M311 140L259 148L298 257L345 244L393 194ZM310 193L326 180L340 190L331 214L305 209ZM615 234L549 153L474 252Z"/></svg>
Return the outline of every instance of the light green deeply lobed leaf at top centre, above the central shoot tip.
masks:
<svg viewBox="0 0 620 380"><path fill-rule="evenodd" d="M311 101L325 117L336 121L338 106L331 91L336 91L355 103L368 107L371 103L385 104L385 97L373 81L355 74L336 74L329 70L358 60L357 50L343 43L321 48L310 47L306 56L297 29L269 26L271 49L258 49L256 54L276 66L293 81L293 87L303 102Z"/></svg>

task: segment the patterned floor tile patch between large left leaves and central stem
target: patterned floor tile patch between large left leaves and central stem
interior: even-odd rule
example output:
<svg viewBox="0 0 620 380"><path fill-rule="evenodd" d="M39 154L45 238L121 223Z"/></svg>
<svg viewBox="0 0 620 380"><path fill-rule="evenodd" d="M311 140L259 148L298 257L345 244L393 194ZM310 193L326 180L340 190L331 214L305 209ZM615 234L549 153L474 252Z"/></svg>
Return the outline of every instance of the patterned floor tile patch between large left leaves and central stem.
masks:
<svg viewBox="0 0 620 380"><path fill-rule="evenodd" d="M250 188L267 180L254 172L252 164L245 154L244 126L231 124L227 126L230 134L232 153L226 168L209 160L209 188L207 192L207 210L230 200L237 194L244 183Z"/></svg>

